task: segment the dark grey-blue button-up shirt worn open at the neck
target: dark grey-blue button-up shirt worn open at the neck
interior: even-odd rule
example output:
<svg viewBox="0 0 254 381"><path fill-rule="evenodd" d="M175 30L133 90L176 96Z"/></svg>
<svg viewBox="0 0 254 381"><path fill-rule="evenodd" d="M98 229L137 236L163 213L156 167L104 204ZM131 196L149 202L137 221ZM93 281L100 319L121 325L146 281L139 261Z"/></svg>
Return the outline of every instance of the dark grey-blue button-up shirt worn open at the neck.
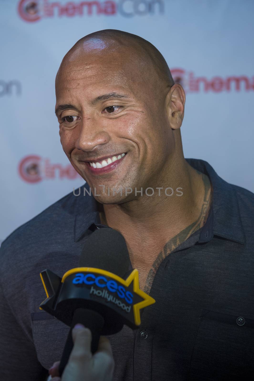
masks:
<svg viewBox="0 0 254 381"><path fill-rule="evenodd" d="M107 336L114 381L254 376L254 194L228 184L207 162L186 160L209 176L213 204L204 227L161 262L150 290L156 303L143 310L140 327ZM61 359L69 327L39 309L46 298L39 274L50 269L62 277L77 267L96 225L97 203L81 188L3 241L1 381L44 380Z"/></svg>

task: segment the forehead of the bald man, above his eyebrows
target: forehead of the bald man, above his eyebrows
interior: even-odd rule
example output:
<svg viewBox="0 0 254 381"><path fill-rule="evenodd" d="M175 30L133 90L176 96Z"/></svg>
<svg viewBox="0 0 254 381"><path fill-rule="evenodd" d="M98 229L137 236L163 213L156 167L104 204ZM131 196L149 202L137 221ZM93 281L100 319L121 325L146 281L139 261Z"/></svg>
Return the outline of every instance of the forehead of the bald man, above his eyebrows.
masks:
<svg viewBox="0 0 254 381"><path fill-rule="evenodd" d="M145 85L141 80L144 65L133 51L105 48L101 41L89 41L89 44L89 48L82 46L64 58L56 76L57 97L81 89L93 92L105 86L117 86L133 93Z"/></svg>

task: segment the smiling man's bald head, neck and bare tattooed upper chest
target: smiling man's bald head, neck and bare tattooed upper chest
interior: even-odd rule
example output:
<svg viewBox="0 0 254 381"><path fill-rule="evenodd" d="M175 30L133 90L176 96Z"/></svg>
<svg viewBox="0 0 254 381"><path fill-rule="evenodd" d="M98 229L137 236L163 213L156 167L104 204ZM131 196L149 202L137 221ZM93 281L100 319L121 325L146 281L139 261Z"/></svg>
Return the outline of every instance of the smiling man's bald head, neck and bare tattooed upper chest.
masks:
<svg viewBox="0 0 254 381"><path fill-rule="evenodd" d="M203 226L212 202L208 176L183 156L184 104L182 86L153 45L117 30L79 40L56 75L63 150L100 203L101 223L124 236L146 293L164 259L158 254ZM175 194L167 196L167 187Z"/></svg>

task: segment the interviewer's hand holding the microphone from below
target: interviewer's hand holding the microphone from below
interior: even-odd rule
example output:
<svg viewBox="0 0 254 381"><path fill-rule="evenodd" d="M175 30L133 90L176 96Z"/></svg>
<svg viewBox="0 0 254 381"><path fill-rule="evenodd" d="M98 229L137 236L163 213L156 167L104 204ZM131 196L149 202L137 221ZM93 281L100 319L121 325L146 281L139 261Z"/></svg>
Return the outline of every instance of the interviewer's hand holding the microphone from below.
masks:
<svg viewBox="0 0 254 381"><path fill-rule="evenodd" d="M60 378L60 361L55 362L48 371L51 381L112 381L114 359L108 338L100 336L98 350L92 355L91 331L82 325L76 326L72 330L74 347L63 375Z"/></svg>

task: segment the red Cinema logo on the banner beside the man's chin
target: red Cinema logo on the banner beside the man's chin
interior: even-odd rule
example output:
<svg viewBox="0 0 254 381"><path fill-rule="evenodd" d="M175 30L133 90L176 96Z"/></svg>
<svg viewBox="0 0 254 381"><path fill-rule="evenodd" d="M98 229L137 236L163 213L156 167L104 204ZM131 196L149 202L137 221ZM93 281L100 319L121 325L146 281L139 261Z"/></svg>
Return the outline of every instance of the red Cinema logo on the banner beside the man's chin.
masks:
<svg viewBox="0 0 254 381"><path fill-rule="evenodd" d="M25 156L18 164L18 173L26 182L35 183L44 179L82 179L71 164L52 164L49 159L37 155Z"/></svg>

